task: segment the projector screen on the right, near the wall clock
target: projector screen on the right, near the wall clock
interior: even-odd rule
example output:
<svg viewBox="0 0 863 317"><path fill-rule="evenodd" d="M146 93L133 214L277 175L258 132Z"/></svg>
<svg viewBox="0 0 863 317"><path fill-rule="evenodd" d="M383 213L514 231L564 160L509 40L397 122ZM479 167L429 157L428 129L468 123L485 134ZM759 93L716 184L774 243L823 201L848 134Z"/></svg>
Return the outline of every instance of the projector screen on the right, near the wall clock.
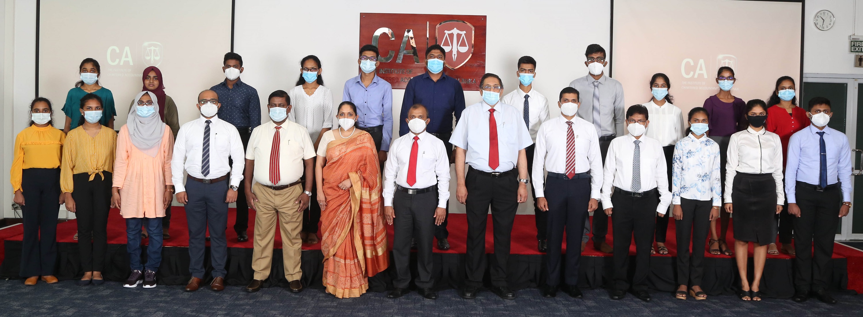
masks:
<svg viewBox="0 0 863 317"><path fill-rule="evenodd" d="M615 0L612 77L628 108L650 101L652 75L665 73L684 115L719 92L722 66L734 68L731 92L744 101L766 101L786 75L799 95L802 10L799 2Z"/></svg>

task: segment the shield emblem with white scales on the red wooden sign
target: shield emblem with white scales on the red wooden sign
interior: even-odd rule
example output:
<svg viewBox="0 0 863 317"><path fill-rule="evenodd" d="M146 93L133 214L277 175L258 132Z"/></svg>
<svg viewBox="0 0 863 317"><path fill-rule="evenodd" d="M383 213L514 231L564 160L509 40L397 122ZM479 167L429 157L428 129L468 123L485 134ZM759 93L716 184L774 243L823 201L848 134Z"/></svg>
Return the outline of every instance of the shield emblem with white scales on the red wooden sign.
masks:
<svg viewBox="0 0 863 317"><path fill-rule="evenodd" d="M438 44L444 48L444 64L462 67L474 54L474 26L461 20L447 20L435 27Z"/></svg>

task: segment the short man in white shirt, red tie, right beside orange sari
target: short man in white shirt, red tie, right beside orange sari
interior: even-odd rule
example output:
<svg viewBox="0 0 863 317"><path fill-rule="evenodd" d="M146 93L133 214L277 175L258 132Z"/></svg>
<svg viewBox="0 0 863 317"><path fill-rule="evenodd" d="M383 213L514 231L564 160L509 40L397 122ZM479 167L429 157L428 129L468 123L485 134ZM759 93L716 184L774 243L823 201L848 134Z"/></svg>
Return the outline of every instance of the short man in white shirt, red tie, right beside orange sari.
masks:
<svg viewBox="0 0 863 317"><path fill-rule="evenodd" d="M424 105L413 105L405 123L410 133L390 146L384 169L383 206L387 225L393 225L393 263L396 278L387 297L399 298L411 282L411 240L417 242L417 279L419 294L438 298L431 277L431 244L435 226L444 222L450 199L450 157L444 142L425 131L431 121ZM395 221L393 221L395 220Z"/></svg>

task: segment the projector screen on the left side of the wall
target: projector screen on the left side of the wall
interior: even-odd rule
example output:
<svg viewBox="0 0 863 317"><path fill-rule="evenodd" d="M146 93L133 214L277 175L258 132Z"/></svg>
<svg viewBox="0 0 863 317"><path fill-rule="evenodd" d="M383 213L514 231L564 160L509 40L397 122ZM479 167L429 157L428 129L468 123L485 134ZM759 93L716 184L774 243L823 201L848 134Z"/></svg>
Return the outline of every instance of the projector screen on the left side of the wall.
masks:
<svg viewBox="0 0 863 317"><path fill-rule="evenodd" d="M161 70L180 124L198 117L198 92L224 80L230 0L41 0L40 7L38 92L51 100L54 125L60 129L66 120L60 111L66 92L79 80L79 64L88 57L98 60L99 83L114 95L115 130L125 124L148 66Z"/></svg>

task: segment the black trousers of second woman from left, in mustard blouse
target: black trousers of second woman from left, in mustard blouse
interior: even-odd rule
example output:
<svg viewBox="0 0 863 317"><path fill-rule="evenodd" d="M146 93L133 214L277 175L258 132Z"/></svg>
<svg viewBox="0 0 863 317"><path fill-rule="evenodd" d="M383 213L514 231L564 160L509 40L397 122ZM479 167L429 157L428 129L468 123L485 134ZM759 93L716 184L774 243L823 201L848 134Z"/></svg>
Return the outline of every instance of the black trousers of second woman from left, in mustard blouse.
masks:
<svg viewBox="0 0 863 317"><path fill-rule="evenodd" d="M105 252L108 250L108 211L110 210L110 172L102 172L90 181L90 174L72 175L72 199L75 200L75 217L78 219L78 252L81 269L101 272ZM90 240L92 239L92 243Z"/></svg>

